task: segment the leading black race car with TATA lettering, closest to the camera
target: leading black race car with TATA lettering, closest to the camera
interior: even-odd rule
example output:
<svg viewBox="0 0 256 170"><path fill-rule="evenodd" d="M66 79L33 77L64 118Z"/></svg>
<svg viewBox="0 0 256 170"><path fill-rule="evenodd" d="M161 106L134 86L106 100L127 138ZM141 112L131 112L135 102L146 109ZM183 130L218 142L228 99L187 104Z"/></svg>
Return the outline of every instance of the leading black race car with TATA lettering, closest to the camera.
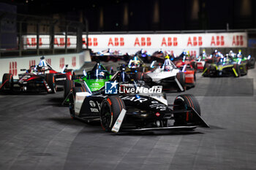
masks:
<svg viewBox="0 0 256 170"><path fill-rule="evenodd" d="M174 104L167 104L162 93L118 94L121 89L118 88L120 78L122 78L121 72L117 72L109 85L94 93L89 89L81 91L74 88L69 94L70 116L87 122L100 120L104 131L115 133L209 127L201 117L200 106L195 96L180 95L176 97ZM131 84L134 81L128 82ZM132 85L135 90L138 88L136 82ZM111 92L114 90L116 95L109 94L109 90Z"/></svg>

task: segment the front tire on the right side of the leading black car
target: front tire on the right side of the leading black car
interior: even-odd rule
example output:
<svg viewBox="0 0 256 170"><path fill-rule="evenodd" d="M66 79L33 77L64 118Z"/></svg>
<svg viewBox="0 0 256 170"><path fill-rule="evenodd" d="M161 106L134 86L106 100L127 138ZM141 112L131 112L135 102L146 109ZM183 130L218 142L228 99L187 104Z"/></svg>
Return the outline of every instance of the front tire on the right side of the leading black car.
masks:
<svg viewBox="0 0 256 170"><path fill-rule="evenodd" d="M179 95L174 100L173 110L184 110L191 107L195 109L195 111L201 115L200 105L195 98L195 96L191 94ZM197 118L193 117L192 113L189 112L181 112L179 114L174 115L175 125L187 125L188 123L196 123Z"/></svg>

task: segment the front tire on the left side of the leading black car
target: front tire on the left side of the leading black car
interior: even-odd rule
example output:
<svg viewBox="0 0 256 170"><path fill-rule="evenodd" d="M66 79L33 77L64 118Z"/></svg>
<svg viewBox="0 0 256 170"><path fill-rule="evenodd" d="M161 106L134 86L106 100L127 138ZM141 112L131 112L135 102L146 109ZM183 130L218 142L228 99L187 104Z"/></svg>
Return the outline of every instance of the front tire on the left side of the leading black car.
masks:
<svg viewBox="0 0 256 170"><path fill-rule="evenodd" d="M111 131L121 110L125 109L124 101L118 96L108 96L100 106L100 123L103 130Z"/></svg>

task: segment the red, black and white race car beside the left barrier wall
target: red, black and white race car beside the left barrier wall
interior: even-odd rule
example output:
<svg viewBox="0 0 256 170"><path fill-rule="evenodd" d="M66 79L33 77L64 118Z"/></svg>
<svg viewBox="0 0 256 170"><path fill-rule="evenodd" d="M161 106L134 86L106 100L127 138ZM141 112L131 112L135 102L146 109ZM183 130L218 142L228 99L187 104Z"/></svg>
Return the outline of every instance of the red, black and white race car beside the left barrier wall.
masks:
<svg viewBox="0 0 256 170"><path fill-rule="evenodd" d="M56 93L57 88L63 87L64 80L71 80L75 74L72 69L67 69L67 65L62 72L54 71L50 65L43 68L31 66L20 71L26 72L18 74L18 80L13 79L12 74L4 74L0 90Z"/></svg>

